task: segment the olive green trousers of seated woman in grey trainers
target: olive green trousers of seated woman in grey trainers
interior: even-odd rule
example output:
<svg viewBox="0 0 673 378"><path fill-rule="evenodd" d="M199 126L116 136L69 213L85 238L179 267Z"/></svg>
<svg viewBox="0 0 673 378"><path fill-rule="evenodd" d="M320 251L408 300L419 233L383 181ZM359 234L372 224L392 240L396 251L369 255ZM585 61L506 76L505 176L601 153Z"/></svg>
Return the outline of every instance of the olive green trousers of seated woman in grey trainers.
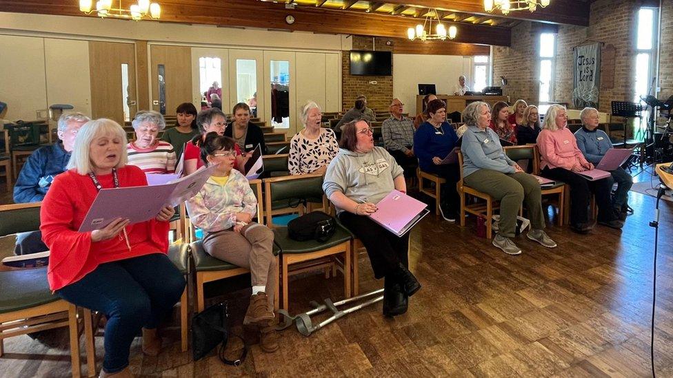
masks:
<svg viewBox="0 0 673 378"><path fill-rule="evenodd" d="M530 226L534 230L545 228L545 216L542 211L542 194L536 178L523 172L503 174L491 169L479 169L465 177L465 185L488 193L500 201L500 235L513 238L516 235L516 216L521 202L528 209ZM490 220L489 220L490 221Z"/></svg>

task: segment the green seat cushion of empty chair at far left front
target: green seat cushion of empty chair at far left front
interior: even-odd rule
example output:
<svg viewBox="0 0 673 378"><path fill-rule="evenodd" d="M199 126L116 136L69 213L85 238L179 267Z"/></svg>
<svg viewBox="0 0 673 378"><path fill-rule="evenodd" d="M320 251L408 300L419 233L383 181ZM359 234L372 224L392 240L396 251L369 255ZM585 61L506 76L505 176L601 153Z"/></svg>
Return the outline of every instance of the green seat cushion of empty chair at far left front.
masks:
<svg viewBox="0 0 673 378"><path fill-rule="evenodd" d="M25 310L55 302L47 282L47 269L0 272L0 313Z"/></svg>

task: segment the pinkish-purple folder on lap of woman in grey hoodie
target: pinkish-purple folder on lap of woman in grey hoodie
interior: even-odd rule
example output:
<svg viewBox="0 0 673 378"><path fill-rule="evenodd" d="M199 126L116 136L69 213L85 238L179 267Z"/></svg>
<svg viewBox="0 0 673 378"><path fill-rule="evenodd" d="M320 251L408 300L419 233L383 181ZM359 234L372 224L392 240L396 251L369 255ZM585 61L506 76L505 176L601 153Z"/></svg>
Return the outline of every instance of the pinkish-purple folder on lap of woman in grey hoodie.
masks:
<svg viewBox="0 0 673 378"><path fill-rule="evenodd" d="M427 204L396 190L388 193L376 207L379 209L370 218L397 236L407 233L430 212L425 209Z"/></svg>

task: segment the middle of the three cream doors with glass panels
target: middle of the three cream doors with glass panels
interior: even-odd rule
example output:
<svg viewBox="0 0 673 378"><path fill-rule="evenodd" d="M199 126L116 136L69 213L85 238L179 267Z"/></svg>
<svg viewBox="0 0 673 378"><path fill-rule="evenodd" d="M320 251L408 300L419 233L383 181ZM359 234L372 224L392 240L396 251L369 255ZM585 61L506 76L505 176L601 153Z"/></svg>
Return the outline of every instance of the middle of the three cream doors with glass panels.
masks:
<svg viewBox="0 0 673 378"><path fill-rule="evenodd" d="M250 107L252 118L267 120L263 98L263 52L259 50L229 50L230 108L237 103Z"/></svg>

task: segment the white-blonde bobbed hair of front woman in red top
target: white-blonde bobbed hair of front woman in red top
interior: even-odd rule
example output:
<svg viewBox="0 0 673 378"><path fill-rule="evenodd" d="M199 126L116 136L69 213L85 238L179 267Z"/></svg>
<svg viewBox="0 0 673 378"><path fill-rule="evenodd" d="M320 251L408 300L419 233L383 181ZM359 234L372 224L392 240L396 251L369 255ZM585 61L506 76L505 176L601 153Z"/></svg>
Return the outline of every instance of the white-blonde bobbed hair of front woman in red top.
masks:
<svg viewBox="0 0 673 378"><path fill-rule="evenodd" d="M70 160L68 161L68 169L77 170L78 174L86 175L93 171L93 165L91 163L91 143L94 139L99 136L106 134L112 134L115 138L119 138L121 142L121 157L119 158L119 163L117 168L121 168L126 163L128 163L128 153L126 151L126 145L128 145L128 140L126 140L126 133L124 129L119 125L119 123L114 122L114 120L108 118L100 118L97 120L90 120L85 123L79 132L77 137L74 139L74 146L72 148L72 154L70 155Z"/></svg>

